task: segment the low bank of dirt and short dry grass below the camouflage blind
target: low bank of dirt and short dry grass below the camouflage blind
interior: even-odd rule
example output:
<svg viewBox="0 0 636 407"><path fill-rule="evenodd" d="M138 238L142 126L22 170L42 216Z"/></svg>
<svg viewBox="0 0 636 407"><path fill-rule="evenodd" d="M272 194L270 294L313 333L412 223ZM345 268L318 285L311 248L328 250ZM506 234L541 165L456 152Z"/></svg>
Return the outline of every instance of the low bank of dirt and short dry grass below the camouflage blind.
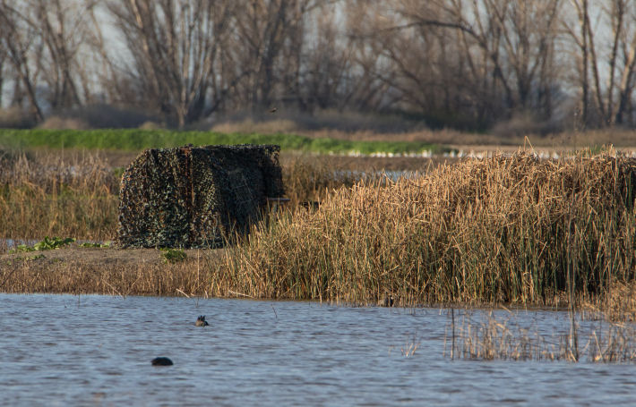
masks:
<svg viewBox="0 0 636 407"><path fill-rule="evenodd" d="M224 276L216 267L223 250L185 250L171 264L155 249L79 248L0 255L0 292L111 295L237 296L214 291Z"/></svg>

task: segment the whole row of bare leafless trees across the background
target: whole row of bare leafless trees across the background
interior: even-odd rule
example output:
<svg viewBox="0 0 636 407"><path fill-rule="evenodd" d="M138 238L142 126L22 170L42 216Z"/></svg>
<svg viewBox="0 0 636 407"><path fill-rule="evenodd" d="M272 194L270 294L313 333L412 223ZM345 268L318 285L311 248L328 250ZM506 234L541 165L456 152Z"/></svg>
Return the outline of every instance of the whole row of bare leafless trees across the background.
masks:
<svg viewBox="0 0 636 407"><path fill-rule="evenodd" d="M635 85L633 0L0 0L4 127L633 127Z"/></svg>

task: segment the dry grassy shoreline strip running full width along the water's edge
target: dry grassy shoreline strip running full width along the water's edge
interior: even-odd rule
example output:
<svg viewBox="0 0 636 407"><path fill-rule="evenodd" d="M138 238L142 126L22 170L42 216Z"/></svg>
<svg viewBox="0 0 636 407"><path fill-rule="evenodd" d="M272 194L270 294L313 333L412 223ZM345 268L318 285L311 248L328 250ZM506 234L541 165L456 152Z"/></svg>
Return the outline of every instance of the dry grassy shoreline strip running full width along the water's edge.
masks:
<svg viewBox="0 0 636 407"><path fill-rule="evenodd" d="M58 250L0 254L0 293L99 294L114 296L172 296L238 298L279 301L325 301L354 306L384 305L381 296L352 301L346 295L315 298L278 293L241 291L245 284L228 262L236 253L228 249L184 250L186 257L174 263L163 260L161 250L82 248L76 243ZM564 291L542 301L413 301L395 298L395 307L468 307L567 310ZM597 294L577 293L575 306L589 318L636 321L636 282L615 282Z"/></svg>

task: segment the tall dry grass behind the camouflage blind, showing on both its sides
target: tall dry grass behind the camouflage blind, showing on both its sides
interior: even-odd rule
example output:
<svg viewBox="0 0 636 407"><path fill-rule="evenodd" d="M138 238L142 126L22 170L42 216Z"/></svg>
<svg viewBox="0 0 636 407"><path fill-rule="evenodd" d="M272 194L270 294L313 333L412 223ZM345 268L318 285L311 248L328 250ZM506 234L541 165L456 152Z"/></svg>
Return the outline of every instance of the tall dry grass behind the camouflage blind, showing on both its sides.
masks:
<svg viewBox="0 0 636 407"><path fill-rule="evenodd" d="M285 155L281 162L289 206L321 201L359 179L348 167L314 156ZM0 239L113 240L120 175L99 152L0 150ZM0 242L0 253L5 246Z"/></svg>

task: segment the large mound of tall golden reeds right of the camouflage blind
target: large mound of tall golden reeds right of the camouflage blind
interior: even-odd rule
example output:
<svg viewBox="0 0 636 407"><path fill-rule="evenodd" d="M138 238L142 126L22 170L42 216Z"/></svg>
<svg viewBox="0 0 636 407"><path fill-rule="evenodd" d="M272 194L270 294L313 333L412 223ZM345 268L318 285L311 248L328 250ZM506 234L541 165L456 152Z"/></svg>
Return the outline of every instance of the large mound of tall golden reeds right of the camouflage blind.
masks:
<svg viewBox="0 0 636 407"><path fill-rule="evenodd" d="M554 303L634 275L636 164L528 152L360 182L255 229L227 267L255 297Z"/></svg>

